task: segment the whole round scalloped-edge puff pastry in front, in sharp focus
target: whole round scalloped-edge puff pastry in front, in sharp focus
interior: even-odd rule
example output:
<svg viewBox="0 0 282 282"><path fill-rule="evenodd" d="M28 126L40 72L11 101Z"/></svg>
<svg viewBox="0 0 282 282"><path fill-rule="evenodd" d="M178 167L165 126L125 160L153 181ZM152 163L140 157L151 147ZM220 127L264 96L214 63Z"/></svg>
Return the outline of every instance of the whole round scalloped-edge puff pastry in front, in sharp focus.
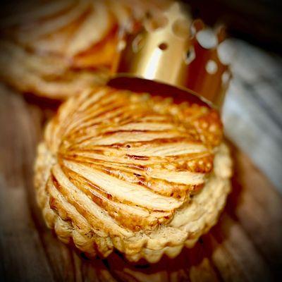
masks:
<svg viewBox="0 0 282 282"><path fill-rule="evenodd" d="M35 164L37 200L59 239L133 262L195 245L216 223L230 177L215 110L111 87L61 106Z"/></svg>

